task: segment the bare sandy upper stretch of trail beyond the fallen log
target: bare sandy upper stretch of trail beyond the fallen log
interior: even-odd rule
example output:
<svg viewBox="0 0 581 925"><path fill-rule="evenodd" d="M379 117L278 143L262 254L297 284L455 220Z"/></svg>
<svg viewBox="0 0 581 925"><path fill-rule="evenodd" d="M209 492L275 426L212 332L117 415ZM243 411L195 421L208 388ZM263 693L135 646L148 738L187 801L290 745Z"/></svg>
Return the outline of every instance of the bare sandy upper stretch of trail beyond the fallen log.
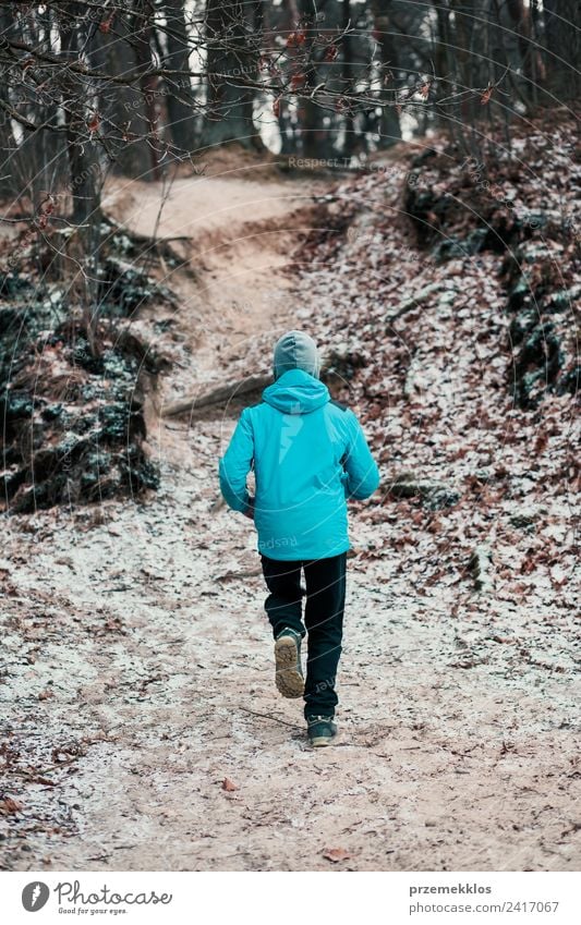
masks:
<svg viewBox="0 0 581 925"><path fill-rule="evenodd" d="M320 181L283 181L273 166L178 178L167 187L113 181L105 199L140 234L173 239L191 275L171 275L182 305L180 333L195 350L196 379L240 356L246 338L290 317L281 272L310 227ZM162 205L162 208L161 208ZM184 240L181 240L184 239ZM168 386L171 384L168 382ZM180 386L183 390L183 380Z"/></svg>

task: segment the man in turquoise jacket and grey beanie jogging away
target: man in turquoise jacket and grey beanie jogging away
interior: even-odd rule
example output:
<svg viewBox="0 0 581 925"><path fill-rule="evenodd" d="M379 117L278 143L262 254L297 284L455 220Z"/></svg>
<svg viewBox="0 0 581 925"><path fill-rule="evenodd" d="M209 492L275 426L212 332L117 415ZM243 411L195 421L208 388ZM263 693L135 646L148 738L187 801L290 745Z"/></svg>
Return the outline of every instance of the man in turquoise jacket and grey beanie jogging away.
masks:
<svg viewBox="0 0 581 925"><path fill-rule="evenodd" d="M337 733L347 499L368 498L379 484L358 418L331 401L319 373L313 339L301 331L283 334L275 346L275 382L263 392L261 404L244 409L219 464L227 503L254 520L258 532L276 685L283 697L304 696L308 739L315 747L328 745ZM252 468L255 498L246 487ZM305 683L301 641L306 633Z"/></svg>

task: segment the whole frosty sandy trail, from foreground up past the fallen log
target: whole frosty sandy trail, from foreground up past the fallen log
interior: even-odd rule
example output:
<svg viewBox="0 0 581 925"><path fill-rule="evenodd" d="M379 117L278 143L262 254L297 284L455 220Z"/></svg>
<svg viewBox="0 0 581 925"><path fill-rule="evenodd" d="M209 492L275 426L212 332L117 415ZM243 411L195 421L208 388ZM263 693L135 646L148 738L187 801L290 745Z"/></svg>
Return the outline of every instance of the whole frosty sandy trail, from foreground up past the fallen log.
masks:
<svg viewBox="0 0 581 925"><path fill-rule="evenodd" d="M313 186L205 182L201 205L204 183L180 181L158 229L192 234L198 277L177 283L181 365L156 406L294 324L285 264ZM118 217L150 231L153 188ZM301 705L274 686L253 528L215 509L233 425L223 409L191 422L152 411L158 492L8 521L0 692L4 791L20 806L4 866L576 869L573 692L542 664L511 673L515 646L471 659L489 628L450 619L446 598L426 605L404 569L386 583L356 555L372 528L356 518L341 734L310 750ZM515 614L516 636L526 620Z"/></svg>

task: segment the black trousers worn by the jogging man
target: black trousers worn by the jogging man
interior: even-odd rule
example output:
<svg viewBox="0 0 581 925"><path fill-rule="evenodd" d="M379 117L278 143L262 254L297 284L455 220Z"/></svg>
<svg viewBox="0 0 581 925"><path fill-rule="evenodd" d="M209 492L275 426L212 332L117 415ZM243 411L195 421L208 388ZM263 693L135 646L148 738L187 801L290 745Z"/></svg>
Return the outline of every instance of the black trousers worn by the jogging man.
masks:
<svg viewBox="0 0 581 925"><path fill-rule="evenodd" d="M265 609L275 637L286 628L301 636L308 633L304 715L334 716L338 703L335 679L343 635L347 553L295 562L261 558L270 592ZM304 623L301 569L306 584Z"/></svg>

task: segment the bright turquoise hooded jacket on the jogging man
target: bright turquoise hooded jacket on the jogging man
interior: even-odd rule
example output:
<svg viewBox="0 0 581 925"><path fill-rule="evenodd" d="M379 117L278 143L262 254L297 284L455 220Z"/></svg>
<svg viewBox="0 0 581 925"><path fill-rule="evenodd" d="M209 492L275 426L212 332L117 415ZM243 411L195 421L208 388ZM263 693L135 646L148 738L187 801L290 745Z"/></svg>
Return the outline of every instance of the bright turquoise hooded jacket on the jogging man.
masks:
<svg viewBox="0 0 581 925"><path fill-rule="evenodd" d="M252 468L258 551L286 561L349 549L347 498L368 498L379 484L353 412L301 369L280 376L240 416L219 464L220 488L234 511L250 503Z"/></svg>

